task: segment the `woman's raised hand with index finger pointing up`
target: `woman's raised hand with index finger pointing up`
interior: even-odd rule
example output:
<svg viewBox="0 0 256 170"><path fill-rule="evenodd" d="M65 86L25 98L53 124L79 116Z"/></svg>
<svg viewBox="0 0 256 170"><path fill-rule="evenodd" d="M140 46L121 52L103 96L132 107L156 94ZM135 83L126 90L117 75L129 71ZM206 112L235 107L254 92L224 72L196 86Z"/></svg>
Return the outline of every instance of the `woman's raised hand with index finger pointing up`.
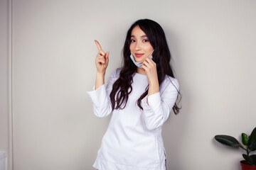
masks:
<svg viewBox="0 0 256 170"><path fill-rule="evenodd" d="M96 43L97 48L99 50L99 52L97 54L97 57L95 58L95 64L96 64L96 67L97 67L97 72L105 74L106 69L107 69L107 65L108 65L108 62L109 62L110 52L104 52L102 50L102 47L100 46L100 43L97 42L97 40L95 40L95 43Z"/></svg>

